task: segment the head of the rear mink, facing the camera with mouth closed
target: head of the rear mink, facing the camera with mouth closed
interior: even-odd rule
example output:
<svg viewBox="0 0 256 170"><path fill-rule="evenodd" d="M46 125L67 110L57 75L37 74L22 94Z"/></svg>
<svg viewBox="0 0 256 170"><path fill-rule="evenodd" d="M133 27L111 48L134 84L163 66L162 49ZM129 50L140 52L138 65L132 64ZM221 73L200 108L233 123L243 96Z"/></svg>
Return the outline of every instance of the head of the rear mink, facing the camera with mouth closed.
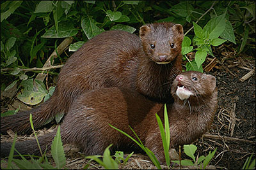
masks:
<svg viewBox="0 0 256 170"><path fill-rule="evenodd" d="M183 27L171 22L143 25L140 27L140 38L150 60L168 64L180 55Z"/></svg>

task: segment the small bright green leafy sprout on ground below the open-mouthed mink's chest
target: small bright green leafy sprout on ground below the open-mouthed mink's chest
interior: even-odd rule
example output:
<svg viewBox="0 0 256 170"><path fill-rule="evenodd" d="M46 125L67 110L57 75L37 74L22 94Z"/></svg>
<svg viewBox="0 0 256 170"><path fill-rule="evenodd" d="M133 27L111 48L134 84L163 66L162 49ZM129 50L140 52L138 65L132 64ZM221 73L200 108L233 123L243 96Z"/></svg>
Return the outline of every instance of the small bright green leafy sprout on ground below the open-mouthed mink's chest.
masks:
<svg viewBox="0 0 256 170"><path fill-rule="evenodd" d="M195 145L184 145L184 152L186 153L186 155L188 155L189 157L191 157L191 159L193 160L172 160L172 162L175 162L177 164L180 164L182 166L197 166L200 165L200 169L205 169L205 167L209 164L209 162L211 161L211 159L214 157L214 154L217 150L217 148L213 151L213 152L209 152L208 155L205 157L204 155L200 156L200 157L195 157L195 152L197 150L197 147Z"/></svg>

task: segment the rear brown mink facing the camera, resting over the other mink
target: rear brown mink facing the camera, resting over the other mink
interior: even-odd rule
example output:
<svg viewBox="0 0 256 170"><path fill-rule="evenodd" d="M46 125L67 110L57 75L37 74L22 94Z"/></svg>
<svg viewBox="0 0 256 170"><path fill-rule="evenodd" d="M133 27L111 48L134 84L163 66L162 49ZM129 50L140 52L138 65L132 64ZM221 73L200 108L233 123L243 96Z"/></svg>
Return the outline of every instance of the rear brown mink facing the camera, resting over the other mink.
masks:
<svg viewBox="0 0 256 170"><path fill-rule="evenodd" d="M181 71L182 39L182 25L170 22L143 25L140 37L125 31L95 36L67 60L51 98L30 111L1 118L1 133L30 132L30 113L38 128L67 113L77 96L93 89L120 87L168 102L172 99L168 82Z"/></svg>

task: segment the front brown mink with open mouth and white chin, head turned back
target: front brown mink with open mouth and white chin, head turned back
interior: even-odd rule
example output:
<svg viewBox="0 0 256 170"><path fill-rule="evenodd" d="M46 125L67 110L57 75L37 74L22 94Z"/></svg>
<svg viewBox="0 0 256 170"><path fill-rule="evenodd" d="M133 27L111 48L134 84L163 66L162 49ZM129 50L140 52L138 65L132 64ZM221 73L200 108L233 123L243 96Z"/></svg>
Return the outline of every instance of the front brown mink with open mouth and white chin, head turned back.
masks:
<svg viewBox="0 0 256 170"><path fill-rule="evenodd" d="M217 108L217 88L214 76L189 71L179 74L172 83L173 104L166 104L170 122L170 146L189 144L200 138L210 127ZM97 89L77 97L61 123L63 143L73 143L86 155L102 155L113 144L112 150L122 146L138 147L108 124L139 138L157 159L164 162L163 144L156 113L163 120L164 104L150 101L136 91L116 87ZM39 138L45 150L56 131ZM1 143L1 156L10 152L11 143ZM17 142L20 153L39 154L35 140Z"/></svg>

